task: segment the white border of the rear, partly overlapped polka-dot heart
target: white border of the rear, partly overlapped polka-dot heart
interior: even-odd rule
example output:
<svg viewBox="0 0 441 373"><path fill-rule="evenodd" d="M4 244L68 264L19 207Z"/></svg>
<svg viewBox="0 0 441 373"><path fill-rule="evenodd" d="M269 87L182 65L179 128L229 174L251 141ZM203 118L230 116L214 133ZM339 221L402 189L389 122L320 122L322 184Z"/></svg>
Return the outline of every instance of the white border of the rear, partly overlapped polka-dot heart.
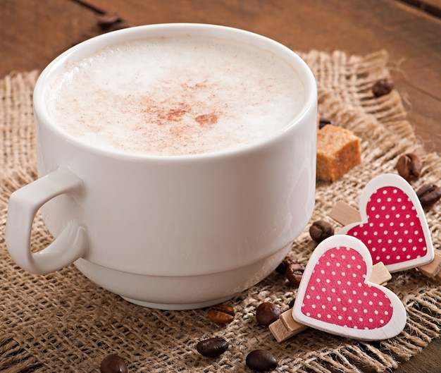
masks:
<svg viewBox="0 0 441 373"><path fill-rule="evenodd" d="M412 204L414 204L416 215L418 216L418 219L421 222L421 226L423 227L423 234L427 244L426 255L424 255L423 257L407 260L406 262L387 264L385 266L387 268L387 271L390 271L390 273L404 271L406 269L416 268L432 262L433 258L435 257L435 250L433 249L433 243L426 220L426 214L424 214L421 202L411 185L401 176L395 175L395 173L383 173L382 175L375 176L375 178L369 181L364 190L361 192L360 196L359 212L361 215L361 221L348 224L347 226L340 228L340 230L337 231L335 234L347 234L347 232L354 226L366 224L368 221L366 207L368 205L369 199L371 198L371 195L373 195L373 193L376 192L378 189L387 186L399 188L410 198Z"/></svg>

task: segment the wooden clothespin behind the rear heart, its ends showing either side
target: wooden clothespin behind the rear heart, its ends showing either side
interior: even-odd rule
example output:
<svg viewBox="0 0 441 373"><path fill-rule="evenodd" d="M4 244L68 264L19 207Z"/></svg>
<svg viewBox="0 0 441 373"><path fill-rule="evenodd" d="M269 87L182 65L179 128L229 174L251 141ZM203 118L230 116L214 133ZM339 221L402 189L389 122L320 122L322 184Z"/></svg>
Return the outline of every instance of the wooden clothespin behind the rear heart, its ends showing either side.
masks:
<svg viewBox="0 0 441 373"><path fill-rule="evenodd" d="M342 201L335 204L333 209L331 209L329 216L337 221L337 223L342 224L342 226L361 221L359 210L354 209L354 207L349 206L349 204ZM428 277L441 280L441 253L437 250L434 250L434 252L435 255L432 262L416 267L416 269Z"/></svg>

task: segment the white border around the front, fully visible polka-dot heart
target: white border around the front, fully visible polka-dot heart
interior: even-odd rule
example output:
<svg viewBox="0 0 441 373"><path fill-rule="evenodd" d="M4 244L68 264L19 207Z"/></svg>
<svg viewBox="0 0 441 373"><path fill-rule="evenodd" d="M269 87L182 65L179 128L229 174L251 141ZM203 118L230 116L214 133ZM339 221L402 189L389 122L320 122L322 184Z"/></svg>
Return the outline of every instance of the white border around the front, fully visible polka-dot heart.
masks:
<svg viewBox="0 0 441 373"><path fill-rule="evenodd" d="M316 267L316 263L323 256L323 254L325 254L325 252L335 247L350 247L359 252L366 262L366 279L364 283L378 288L379 291L385 293L385 295L387 295L387 298L390 299L393 310L392 318L384 326L370 330L353 329L347 326L330 324L328 322L323 322L322 320L313 319L312 317L309 317L302 312L304 295L309 285L309 280L311 279L313 269L314 267ZM370 279L371 274L371 253L369 252L366 245L361 242L361 240L352 236L343 235L331 236L330 238L323 240L313 251L311 257L309 258L309 262L306 265L306 269L302 276L302 281L300 281L299 284L299 290L297 291L297 297L294 301L294 307L292 307L292 317L300 324L310 326L311 328L326 331L327 333L335 334L337 336L358 339L360 341L380 341L397 336L399 333L402 332L404 326L406 326L406 309L404 308L404 305L395 293L390 291L388 288L385 288L384 286L371 283L368 280Z"/></svg>

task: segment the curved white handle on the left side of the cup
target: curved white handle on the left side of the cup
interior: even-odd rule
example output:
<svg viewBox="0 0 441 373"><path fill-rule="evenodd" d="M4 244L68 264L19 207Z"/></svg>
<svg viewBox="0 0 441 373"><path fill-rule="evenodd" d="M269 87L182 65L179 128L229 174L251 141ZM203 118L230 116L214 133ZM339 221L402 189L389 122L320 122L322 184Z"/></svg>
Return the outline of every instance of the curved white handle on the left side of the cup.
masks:
<svg viewBox="0 0 441 373"><path fill-rule="evenodd" d="M9 197L6 246L15 262L35 274L49 274L75 262L87 252L87 233L77 220L68 221L49 246L33 253L30 247L32 222L44 203L61 194L78 194L82 179L61 166L46 176L16 190Z"/></svg>

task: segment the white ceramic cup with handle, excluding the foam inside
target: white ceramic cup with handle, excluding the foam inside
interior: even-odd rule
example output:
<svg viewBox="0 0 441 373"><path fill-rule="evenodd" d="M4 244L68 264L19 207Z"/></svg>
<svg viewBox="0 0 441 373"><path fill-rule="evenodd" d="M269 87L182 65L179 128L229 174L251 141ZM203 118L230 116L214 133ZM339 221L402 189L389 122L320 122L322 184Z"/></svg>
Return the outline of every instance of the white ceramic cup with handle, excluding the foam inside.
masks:
<svg viewBox="0 0 441 373"><path fill-rule="evenodd" d="M117 42L183 33L237 39L280 56L302 79L302 110L263 141L179 157L108 152L70 137L49 117L42 92L66 61ZM316 105L306 63L282 44L244 30L147 25L78 44L37 81L39 178L11 195L8 251L36 274L75 263L99 286L147 307L182 310L228 300L268 276L311 217ZM32 252L32 221L40 207L55 239Z"/></svg>

